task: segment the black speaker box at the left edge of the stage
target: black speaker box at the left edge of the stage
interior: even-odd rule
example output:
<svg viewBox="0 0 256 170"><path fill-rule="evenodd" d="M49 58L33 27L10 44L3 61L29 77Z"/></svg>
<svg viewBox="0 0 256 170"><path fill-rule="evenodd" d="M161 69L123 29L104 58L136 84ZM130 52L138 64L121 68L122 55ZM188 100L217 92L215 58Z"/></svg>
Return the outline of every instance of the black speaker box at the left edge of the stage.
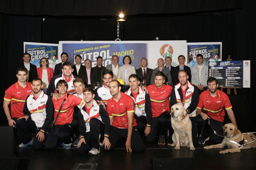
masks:
<svg viewBox="0 0 256 170"><path fill-rule="evenodd" d="M12 126L0 127L0 157L15 157L16 144Z"/></svg>

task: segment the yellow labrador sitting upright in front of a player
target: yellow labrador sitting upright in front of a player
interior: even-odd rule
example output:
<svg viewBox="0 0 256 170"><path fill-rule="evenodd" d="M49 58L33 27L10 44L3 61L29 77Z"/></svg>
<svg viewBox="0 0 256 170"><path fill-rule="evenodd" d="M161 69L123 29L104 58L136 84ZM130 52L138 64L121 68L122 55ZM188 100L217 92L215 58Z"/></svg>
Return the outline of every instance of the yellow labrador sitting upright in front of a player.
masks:
<svg viewBox="0 0 256 170"><path fill-rule="evenodd" d="M186 116L185 119L182 119L182 115ZM180 104L174 104L171 108L171 116L174 130L171 146L175 146L175 149L180 149L180 146L187 146L190 150L195 150L192 142L192 124L186 109Z"/></svg>

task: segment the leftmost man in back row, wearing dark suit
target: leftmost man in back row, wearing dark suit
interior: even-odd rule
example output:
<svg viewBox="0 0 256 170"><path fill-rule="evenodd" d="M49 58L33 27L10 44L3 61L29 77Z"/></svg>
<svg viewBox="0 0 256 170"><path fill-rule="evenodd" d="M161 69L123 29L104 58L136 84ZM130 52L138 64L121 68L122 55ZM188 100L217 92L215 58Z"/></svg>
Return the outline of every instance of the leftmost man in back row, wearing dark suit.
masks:
<svg viewBox="0 0 256 170"><path fill-rule="evenodd" d="M37 78L37 69L34 64L30 63L31 55L29 53L23 54L23 62L19 64L18 67L26 67L28 69L27 81L32 83L34 78Z"/></svg>

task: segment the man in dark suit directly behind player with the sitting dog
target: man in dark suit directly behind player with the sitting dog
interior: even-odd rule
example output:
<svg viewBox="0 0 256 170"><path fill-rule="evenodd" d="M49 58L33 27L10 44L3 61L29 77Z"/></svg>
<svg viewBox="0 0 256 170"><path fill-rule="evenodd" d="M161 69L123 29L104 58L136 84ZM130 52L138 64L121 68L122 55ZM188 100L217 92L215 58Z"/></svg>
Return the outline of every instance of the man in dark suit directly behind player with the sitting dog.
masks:
<svg viewBox="0 0 256 170"><path fill-rule="evenodd" d="M185 64L184 64L185 61L186 61L184 55L180 55L178 57L178 60L179 60L180 65L174 67L173 73L172 73L172 75L173 75L173 82L174 82L173 86L175 86L176 84L178 84L180 82L179 78L178 78L179 77L178 72L180 70L186 70L187 71L187 73L188 73L188 81L191 82L191 70L190 70L190 68L188 66L185 66Z"/></svg>

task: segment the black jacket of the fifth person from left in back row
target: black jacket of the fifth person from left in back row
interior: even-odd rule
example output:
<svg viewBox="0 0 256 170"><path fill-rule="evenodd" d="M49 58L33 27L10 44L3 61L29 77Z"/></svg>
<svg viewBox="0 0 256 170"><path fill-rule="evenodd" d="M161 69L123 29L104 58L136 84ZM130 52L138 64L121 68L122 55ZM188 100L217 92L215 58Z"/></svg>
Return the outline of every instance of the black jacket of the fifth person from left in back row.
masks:
<svg viewBox="0 0 256 170"><path fill-rule="evenodd" d="M87 77L86 67L79 70L78 77L83 79L85 86L88 87L88 77ZM90 80L91 80L91 85L93 82L98 82L97 70L92 67L91 67L91 73L90 73Z"/></svg>

